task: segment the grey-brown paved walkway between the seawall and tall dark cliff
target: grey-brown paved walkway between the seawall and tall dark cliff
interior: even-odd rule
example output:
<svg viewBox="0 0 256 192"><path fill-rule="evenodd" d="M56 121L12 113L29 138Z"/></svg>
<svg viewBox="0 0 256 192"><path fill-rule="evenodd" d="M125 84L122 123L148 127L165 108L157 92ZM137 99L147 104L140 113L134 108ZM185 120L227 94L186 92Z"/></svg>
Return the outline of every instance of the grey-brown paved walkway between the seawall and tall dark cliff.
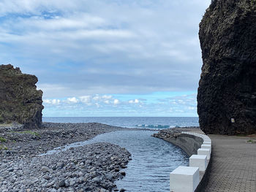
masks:
<svg viewBox="0 0 256 192"><path fill-rule="evenodd" d="M212 166L206 192L255 192L256 143L245 137L208 136Z"/></svg>

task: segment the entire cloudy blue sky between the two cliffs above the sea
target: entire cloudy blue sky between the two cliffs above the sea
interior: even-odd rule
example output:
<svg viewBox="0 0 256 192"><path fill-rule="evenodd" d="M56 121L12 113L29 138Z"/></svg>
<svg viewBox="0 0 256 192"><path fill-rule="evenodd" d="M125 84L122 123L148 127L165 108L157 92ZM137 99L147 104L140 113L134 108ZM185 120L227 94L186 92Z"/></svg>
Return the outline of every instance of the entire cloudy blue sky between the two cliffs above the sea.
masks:
<svg viewBox="0 0 256 192"><path fill-rule="evenodd" d="M45 117L197 117L211 0L2 0L0 64L35 74Z"/></svg>

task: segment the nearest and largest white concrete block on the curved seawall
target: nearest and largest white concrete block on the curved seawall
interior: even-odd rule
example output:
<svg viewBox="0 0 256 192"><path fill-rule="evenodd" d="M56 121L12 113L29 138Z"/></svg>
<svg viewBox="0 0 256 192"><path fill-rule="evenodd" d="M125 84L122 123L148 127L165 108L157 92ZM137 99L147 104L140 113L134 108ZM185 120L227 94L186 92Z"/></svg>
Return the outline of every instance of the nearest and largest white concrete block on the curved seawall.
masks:
<svg viewBox="0 0 256 192"><path fill-rule="evenodd" d="M199 184L199 168L178 166L170 173L170 191L193 192Z"/></svg>

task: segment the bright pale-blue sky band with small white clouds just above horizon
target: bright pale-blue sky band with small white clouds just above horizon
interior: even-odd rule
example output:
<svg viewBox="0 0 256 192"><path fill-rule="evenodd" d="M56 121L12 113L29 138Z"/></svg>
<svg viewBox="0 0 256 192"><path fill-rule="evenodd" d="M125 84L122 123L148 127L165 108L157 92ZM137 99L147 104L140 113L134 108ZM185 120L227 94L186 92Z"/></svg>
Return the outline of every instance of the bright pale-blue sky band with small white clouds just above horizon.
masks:
<svg viewBox="0 0 256 192"><path fill-rule="evenodd" d="M114 96L105 94L92 94L79 97L69 97L62 99L44 99L45 114L56 114L61 116L69 111L76 115L151 115L151 116L195 116L196 94L167 97L171 93L156 93L154 96L115 94ZM93 99L97 97L97 99ZM140 99L131 99L131 98ZM108 99L107 99L108 98ZM153 99L154 98L154 99ZM157 98L157 99L156 99ZM160 98L160 99L159 99ZM161 101L161 102L159 102ZM174 104L173 104L173 102ZM49 111L53 110L52 113ZM56 111L59 111L58 113ZM55 115L53 115L55 116Z"/></svg>

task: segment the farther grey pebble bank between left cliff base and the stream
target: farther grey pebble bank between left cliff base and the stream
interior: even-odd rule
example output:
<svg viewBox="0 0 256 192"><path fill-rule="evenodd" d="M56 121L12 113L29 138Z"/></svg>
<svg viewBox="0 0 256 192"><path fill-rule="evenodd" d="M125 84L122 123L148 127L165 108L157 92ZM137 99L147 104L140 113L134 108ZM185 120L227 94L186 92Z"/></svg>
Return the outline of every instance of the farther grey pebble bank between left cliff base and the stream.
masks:
<svg viewBox="0 0 256 192"><path fill-rule="evenodd" d="M102 123L43 123L42 128L27 129L22 126L0 128L0 137L6 139L1 145L7 147L1 155L15 158L26 155L34 157L55 147L61 147L73 142L92 139L98 134L110 131L147 130L138 128L121 128ZM22 149L22 150L20 150ZM4 154L3 154L4 153Z"/></svg>

